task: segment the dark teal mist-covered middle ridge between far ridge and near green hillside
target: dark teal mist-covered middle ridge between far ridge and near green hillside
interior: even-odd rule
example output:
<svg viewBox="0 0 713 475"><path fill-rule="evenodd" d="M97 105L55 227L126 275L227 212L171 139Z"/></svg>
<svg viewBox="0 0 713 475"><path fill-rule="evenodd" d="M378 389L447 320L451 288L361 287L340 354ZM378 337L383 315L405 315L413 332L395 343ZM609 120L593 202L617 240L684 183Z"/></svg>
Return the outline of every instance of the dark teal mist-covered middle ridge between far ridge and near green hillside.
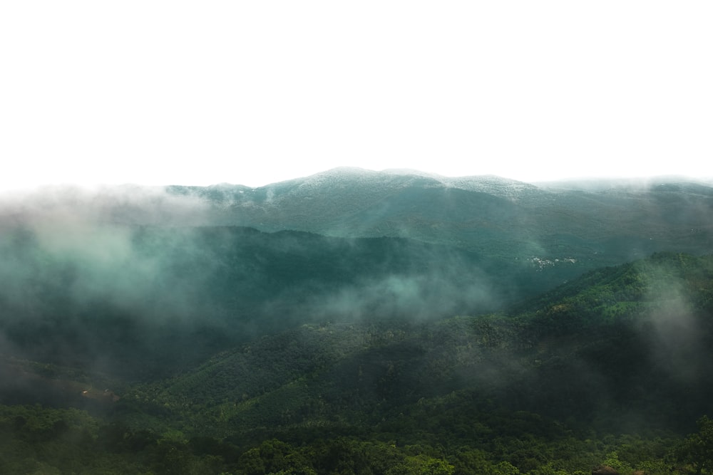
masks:
<svg viewBox="0 0 713 475"><path fill-rule="evenodd" d="M131 379L304 323L483 313L546 288L528 279L530 266L409 239L236 226L56 231L16 225L0 236L10 353Z"/></svg>

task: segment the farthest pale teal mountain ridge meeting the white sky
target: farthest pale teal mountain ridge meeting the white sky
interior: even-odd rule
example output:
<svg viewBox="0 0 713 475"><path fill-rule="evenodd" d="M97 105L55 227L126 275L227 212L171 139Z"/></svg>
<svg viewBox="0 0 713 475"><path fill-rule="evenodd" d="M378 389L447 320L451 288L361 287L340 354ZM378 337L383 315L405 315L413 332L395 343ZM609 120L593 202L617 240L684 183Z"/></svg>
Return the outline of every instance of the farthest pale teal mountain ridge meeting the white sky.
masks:
<svg viewBox="0 0 713 475"><path fill-rule="evenodd" d="M329 170L225 194L208 206L220 224L403 236L502 259L576 259L590 268L656 251L713 249L713 187L705 182L609 181L570 189L400 173ZM205 190L169 193L200 199Z"/></svg>

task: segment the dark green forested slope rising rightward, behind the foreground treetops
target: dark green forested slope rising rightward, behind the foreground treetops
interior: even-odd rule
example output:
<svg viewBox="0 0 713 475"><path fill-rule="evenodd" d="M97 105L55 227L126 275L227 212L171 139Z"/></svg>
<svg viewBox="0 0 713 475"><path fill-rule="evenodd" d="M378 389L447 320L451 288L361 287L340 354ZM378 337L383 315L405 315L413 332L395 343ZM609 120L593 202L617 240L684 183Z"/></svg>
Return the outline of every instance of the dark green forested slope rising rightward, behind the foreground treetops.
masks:
<svg viewBox="0 0 713 475"><path fill-rule="evenodd" d="M680 429L713 400L712 295L713 256L660 254L591 273L509 317L303 325L139 394L232 437L306 437L310 427L411 437L414 414L448 395L470 407L461 417L471 424L494 401L582 427Z"/></svg>

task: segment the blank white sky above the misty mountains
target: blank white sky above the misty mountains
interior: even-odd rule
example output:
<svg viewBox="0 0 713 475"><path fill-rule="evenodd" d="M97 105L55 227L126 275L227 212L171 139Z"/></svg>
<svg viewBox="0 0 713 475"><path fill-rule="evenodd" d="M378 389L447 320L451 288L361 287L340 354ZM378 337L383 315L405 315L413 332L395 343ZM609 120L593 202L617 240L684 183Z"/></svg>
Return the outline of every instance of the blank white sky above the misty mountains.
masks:
<svg viewBox="0 0 713 475"><path fill-rule="evenodd" d="M0 189L713 176L713 2L4 1Z"/></svg>

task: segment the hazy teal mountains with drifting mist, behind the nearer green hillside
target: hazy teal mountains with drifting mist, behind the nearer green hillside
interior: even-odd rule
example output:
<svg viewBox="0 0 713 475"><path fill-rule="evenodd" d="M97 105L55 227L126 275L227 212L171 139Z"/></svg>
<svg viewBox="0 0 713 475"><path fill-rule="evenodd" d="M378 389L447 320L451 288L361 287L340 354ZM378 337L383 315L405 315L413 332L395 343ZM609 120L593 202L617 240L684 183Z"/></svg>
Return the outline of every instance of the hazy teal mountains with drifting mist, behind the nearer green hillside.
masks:
<svg viewBox="0 0 713 475"><path fill-rule="evenodd" d="M5 194L3 348L198 360L297 322L482 313L590 268L711 249L710 187L601 189L339 169L265 189ZM138 356L117 354L128 344Z"/></svg>

